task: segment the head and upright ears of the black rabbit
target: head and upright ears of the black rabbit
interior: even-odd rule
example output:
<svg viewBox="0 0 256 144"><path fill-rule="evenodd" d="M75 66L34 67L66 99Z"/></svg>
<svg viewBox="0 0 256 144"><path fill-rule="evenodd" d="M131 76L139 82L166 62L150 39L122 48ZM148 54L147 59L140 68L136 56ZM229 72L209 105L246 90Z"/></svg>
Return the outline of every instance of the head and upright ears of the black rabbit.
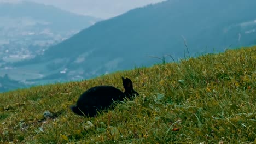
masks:
<svg viewBox="0 0 256 144"><path fill-rule="evenodd" d="M133 89L132 81L130 79L128 79L128 78L125 79L122 76L122 80L123 80L123 86L125 89L124 94L126 95L126 97L132 98L134 96L139 96L139 94Z"/></svg>

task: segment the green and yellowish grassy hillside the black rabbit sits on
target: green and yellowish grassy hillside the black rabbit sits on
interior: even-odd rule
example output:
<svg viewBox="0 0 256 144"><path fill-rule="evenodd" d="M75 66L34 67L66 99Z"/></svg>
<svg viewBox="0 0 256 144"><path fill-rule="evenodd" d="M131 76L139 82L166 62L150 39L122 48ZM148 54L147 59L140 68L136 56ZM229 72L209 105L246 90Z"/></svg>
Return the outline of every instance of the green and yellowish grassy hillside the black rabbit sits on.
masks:
<svg viewBox="0 0 256 144"><path fill-rule="evenodd" d="M0 142L255 143L255 67L256 46L2 93ZM92 86L121 89L121 76L140 97L95 118L69 110Z"/></svg>

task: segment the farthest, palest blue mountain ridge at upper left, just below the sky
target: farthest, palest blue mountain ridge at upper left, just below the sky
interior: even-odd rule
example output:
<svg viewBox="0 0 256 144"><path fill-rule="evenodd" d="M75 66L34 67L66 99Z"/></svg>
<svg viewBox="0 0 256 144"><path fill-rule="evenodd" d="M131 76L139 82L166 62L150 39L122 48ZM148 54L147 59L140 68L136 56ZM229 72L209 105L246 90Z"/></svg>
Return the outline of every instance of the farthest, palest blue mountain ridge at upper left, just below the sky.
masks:
<svg viewBox="0 0 256 144"><path fill-rule="evenodd" d="M91 26L101 20L91 16L73 14L51 5L37 4L29 1L22 1L18 4L0 3L0 17L30 17L35 20L50 22L56 31L63 31L67 27L81 29ZM75 23L74 23L75 22Z"/></svg>

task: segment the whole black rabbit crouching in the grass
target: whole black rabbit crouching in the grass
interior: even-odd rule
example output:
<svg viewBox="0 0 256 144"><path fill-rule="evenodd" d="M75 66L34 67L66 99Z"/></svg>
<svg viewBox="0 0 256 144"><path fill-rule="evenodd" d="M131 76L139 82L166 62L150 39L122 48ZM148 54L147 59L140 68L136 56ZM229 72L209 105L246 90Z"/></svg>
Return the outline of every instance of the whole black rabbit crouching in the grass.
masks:
<svg viewBox="0 0 256 144"><path fill-rule="evenodd" d="M70 109L80 116L93 117L97 110L106 110L114 101L124 101L125 97L131 99L139 94L133 90L132 81L128 78L123 80L125 92L112 86L96 86L88 89L80 95L77 105L71 106Z"/></svg>

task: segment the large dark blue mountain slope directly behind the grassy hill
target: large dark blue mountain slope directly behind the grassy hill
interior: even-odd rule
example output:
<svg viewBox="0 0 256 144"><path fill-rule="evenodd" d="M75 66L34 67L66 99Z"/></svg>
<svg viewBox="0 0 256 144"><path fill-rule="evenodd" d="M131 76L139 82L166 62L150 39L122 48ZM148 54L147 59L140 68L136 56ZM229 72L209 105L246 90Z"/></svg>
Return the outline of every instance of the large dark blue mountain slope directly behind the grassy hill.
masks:
<svg viewBox="0 0 256 144"><path fill-rule="evenodd" d="M159 62L150 56L170 54L177 60L254 45L254 5L254 0L169 0L148 5L97 22L28 63L51 71L40 73L44 77L37 81L80 80Z"/></svg>

